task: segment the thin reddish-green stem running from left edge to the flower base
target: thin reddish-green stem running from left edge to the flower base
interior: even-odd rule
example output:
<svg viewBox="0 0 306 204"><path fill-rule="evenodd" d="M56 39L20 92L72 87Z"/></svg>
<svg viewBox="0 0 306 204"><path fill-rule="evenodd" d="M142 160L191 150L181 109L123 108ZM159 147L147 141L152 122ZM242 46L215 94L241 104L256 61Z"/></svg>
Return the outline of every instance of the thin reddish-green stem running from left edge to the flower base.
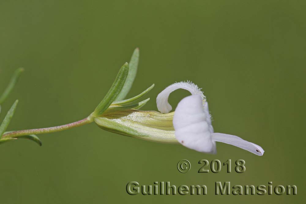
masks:
<svg viewBox="0 0 306 204"><path fill-rule="evenodd" d="M32 135L32 134L43 134L43 133L50 133L50 132L59 132L59 131L79 127L84 124L91 123L92 121L93 121L93 117L90 115L80 121L76 121L76 122L65 124L65 125L60 125L60 126L55 126L55 127L50 127L50 128L38 128L38 129L18 130L18 131L8 132L6 134L3 134L2 138L18 137L18 136Z"/></svg>

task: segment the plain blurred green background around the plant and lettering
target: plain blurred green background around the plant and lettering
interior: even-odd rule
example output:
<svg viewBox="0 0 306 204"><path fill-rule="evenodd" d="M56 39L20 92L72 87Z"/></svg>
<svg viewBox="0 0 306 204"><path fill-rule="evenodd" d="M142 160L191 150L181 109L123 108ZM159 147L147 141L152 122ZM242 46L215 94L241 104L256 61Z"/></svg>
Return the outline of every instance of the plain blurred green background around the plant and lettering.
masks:
<svg viewBox="0 0 306 204"><path fill-rule="evenodd" d="M155 83L203 87L215 132L241 136L262 157L217 144L218 154L106 132L95 124L0 146L0 203L302 203L305 199L305 1L0 1L0 87L24 67L2 104L20 102L9 130L80 120L140 48L128 96ZM187 96L176 91L173 107ZM182 174L177 162L188 159ZM238 174L197 173L200 159L246 161ZM234 164L232 164L234 166ZM208 195L128 195L129 181L205 184ZM214 195L232 185L297 185L297 195Z"/></svg>

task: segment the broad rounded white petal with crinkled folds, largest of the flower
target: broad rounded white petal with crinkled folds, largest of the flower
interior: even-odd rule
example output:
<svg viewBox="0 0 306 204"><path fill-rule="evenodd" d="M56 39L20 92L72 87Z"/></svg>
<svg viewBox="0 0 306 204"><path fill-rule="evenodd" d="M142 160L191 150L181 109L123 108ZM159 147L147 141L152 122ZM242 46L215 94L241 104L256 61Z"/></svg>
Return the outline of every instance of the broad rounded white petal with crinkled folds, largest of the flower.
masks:
<svg viewBox="0 0 306 204"><path fill-rule="evenodd" d="M211 140L206 119L200 95L183 98L173 116L174 134L178 142L199 152L216 153L216 145Z"/></svg>

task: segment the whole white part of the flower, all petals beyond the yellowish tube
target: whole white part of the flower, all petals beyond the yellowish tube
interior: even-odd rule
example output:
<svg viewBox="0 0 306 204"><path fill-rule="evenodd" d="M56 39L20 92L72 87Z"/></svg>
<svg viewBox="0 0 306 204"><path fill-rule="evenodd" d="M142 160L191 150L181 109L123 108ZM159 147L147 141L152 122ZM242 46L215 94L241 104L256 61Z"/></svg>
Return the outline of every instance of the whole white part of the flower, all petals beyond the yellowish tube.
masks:
<svg viewBox="0 0 306 204"><path fill-rule="evenodd" d="M223 142L259 156L263 155L263 148L254 143L235 135L214 133L208 103L203 92L194 83L179 82L166 87L156 98L157 108L160 112L170 112L172 107L168 103L168 97L172 91L180 88L188 90L192 95L183 98L174 112L174 134L179 143L199 152L215 154L215 142Z"/></svg>

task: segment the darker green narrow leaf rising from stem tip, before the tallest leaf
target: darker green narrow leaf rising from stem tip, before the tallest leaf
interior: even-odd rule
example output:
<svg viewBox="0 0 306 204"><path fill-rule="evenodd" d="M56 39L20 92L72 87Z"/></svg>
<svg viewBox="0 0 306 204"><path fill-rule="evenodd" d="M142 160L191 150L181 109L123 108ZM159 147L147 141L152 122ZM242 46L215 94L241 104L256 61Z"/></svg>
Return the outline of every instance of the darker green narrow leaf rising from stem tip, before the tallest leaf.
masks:
<svg viewBox="0 0 306 204"><path fill-rule="evenodd" d="M126 62L119 70L113 85L110 87L110 90L107 92L107 94L99 103L99 105L95 108L95 111L93 113L94 116L101 115L110 106L110 104L114 102L114 100L122 90L128 73L129 64Z"/></svg>

